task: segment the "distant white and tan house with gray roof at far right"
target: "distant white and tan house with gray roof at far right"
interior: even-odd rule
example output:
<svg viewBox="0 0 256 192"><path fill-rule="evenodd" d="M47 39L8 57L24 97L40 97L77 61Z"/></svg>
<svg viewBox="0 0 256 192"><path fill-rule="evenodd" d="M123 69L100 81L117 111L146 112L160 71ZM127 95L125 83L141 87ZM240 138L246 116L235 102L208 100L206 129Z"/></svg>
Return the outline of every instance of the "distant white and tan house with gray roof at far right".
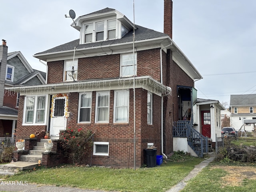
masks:
<svg viewBox="0 0 256 192"><path fill-rule="evenodd" d="M252 132L256 126L256 94L230 95L232 126Z"/></svg>

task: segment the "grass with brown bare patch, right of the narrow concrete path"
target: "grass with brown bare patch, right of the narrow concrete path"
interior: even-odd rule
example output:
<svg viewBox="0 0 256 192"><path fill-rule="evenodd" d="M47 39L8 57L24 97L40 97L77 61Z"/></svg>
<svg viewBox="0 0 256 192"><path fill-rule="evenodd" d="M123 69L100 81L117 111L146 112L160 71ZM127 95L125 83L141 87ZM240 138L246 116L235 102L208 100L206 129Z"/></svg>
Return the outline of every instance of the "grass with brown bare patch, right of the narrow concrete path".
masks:
<svg viewBox="0 0 256 192"><path fill-rule="evenodd" d="M213 162L180 192L255 192L256 164Z"/></svg>

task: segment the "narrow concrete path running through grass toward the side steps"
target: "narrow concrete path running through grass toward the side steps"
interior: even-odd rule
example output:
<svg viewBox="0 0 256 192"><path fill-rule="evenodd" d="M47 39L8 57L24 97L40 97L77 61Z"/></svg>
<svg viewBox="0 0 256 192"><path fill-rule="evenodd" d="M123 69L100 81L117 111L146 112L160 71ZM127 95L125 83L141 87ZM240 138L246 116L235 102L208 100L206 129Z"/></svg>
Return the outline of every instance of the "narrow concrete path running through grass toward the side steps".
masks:
<svg viewBox="0 0 256 192"><path fill-rule="evenodd" d="M211 156L210 158L208 158L208 159L202 161L200 164L196 165L195 168L190 172L190 174L188 174L181 182L179 182L176 186L173 186L170 190L168 190L166 192L179 192L180 190L182 190L186 186L188 180L195 177L210 162L214 161L214 159L215 159L215 157Z"/></svg>

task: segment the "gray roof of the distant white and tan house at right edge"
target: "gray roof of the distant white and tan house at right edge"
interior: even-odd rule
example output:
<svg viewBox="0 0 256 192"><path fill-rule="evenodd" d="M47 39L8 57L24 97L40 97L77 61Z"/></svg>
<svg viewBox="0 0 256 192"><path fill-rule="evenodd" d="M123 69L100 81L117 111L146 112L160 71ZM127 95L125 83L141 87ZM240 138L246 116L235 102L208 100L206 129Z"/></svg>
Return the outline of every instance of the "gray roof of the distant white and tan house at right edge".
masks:
<svg viewBox="0 0 256 192"><path fill-rule="evenodd" d="M230 105L256 105L256 94L230 95Z"/></svg>

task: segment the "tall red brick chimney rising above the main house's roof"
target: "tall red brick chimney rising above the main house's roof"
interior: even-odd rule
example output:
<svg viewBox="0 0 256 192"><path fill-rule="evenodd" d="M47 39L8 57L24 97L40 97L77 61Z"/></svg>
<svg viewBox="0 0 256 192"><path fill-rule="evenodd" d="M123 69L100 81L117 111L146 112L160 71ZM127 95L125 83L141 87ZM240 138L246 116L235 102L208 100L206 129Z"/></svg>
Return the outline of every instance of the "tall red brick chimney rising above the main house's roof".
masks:
<svg viewBox="0 0 256 192"><path fill-rule="evenodd" d="M164 33L172 38L172 0L164 0Z"/></svg>

